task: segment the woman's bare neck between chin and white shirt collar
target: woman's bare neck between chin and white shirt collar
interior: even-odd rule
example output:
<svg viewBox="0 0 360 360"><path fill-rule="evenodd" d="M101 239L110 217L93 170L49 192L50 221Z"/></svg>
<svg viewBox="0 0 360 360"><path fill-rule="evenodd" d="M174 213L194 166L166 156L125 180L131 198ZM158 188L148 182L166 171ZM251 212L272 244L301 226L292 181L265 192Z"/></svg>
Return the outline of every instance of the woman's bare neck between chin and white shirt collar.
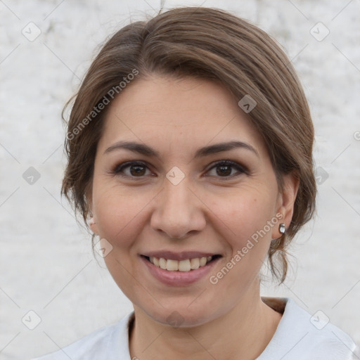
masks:
<svg viewBox="0 0 360 360"><path fill-rule="evenodd" d="M281 320L257 294L244 297L223 316L200 326L172 328L134 306L131 359L256 359L269 344Z"/></svg>

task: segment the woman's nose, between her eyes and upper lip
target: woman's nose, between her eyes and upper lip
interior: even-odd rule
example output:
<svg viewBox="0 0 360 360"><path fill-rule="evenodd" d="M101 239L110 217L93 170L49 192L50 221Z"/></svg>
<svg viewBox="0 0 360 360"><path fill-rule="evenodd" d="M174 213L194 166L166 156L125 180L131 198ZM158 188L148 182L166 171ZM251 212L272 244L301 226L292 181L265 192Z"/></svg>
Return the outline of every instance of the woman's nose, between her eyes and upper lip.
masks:
<svg viewBox="0 0 360 360"><path fill-rule="evenodd" d="M186 179L177 185L165 179L165 188L155 200L150 225L169 238L186 238L205 228L204 206Z"/></svg>

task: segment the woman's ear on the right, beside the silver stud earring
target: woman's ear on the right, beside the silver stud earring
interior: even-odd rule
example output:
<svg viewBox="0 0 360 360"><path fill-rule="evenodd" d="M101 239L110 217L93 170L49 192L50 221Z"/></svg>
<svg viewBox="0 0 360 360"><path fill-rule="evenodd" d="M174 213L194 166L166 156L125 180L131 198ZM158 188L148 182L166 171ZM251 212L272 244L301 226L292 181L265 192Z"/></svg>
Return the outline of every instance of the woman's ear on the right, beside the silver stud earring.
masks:
<svg viewBox="0 0 360 360"><path fill-rule="evenodd" d="M285 224L285 229L290 226L291 219L293 219L294 204L298 190L299 176L297 171L294 170L289 174L283 175L283 192L278 194L276 214L280 213L283 215L283 217L279 219L279 224ZM278 226L274 226L271 234L272 238L280 238L282 235Z"/></svg>

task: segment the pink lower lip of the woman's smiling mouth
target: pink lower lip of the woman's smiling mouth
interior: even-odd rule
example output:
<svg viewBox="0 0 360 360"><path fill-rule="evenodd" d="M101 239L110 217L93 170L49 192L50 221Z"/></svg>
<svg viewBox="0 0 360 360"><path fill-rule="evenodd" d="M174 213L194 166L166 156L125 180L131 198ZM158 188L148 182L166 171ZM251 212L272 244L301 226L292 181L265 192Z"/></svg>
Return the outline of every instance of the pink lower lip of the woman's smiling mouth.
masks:
<svg viewBox="0 0 360 360"><path fill-rule="evenodd" d="M146 266L148 266L150 274L161 283L172 286L186 286L199 281L201 278L204 278L220 258L214 259L212 262L209 262L209 264L191 271L168 271L160 269L160 267L155 266L153 263L149 262L142 256L140 259Z"/></svg>

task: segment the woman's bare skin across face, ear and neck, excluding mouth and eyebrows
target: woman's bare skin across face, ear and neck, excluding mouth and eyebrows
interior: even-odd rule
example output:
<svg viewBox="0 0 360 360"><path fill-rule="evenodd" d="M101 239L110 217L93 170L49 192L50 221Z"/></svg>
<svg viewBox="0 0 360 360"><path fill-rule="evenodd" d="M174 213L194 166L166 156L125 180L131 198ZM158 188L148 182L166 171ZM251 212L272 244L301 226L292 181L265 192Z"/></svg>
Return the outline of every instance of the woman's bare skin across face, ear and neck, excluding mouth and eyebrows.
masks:
<svg viewBox="0 0 360 360"><path fill-rule="evenodd" d="M134 304L131 358L255 359L281 320L259 295L259 271L271 239L281 236L278 224L216 285L209 277L276 214L290 224L295 176L283 177L279 193L269 153L249 115L210 80L148 75L109 106L89 194L91 229L113 246L105 263ZM117 141L145 143L159 155L124 148L105 152ZM234 148L195 158L199 148L228 141L247 143L256 153ZM146 166L113 171L132 160ZM245 172L233 166L221 171L214 165L219 160L232 160ZM185 176L177 185L166 177L174 166ZM221 258L199 281L169 286L150 275L139 257L153 250L208 251ZM174 311L181 316L179 328L167 320Z"/></svg>

